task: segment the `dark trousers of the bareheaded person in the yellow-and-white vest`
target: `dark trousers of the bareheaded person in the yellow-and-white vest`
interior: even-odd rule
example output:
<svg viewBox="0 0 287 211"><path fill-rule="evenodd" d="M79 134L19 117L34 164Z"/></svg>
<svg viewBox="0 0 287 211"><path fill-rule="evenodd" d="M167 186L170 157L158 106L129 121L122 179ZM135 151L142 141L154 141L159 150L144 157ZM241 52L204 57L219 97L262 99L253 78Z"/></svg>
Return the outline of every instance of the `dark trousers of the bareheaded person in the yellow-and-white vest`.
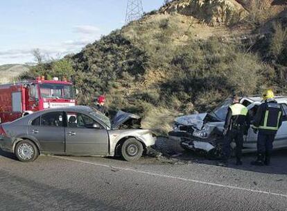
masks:
<svg viewBox="0 0 287 211"><path fill-rule="evenodd" d="M225 135L225 140L223 144L223 158L227 160L230 155L230 144L234 140L236 143L236 158L238 160L242 157L243 148L243 130L237 130L232 128L228 130L227 135Z"/></svg>

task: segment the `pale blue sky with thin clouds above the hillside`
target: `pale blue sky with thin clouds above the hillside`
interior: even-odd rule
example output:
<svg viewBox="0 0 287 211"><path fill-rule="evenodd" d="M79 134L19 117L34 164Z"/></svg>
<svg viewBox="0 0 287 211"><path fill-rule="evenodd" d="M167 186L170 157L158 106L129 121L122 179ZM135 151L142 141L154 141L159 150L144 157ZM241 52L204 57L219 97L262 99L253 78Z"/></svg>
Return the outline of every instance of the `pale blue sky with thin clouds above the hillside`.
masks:
<svg viewBox="0 0 287 211"><path fill-rule="evenodd" d="M128 0L9 0L0 3L0 65L77 53L125 22ZM142 0L144 12L163 0Z"/></svg>

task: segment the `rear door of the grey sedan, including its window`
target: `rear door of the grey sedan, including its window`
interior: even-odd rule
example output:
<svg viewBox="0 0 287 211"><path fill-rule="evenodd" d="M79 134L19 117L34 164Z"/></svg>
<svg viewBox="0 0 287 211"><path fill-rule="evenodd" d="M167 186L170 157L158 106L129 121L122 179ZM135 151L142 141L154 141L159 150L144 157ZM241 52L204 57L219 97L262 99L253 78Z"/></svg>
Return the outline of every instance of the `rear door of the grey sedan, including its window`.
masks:
<svg viewBox="0 0 287 211"><path fill-rule="evenodd" d="M40 143L41 151L64 153L63 117L63 112L48 112L33 119L28 126L28 135Z"/></svg>

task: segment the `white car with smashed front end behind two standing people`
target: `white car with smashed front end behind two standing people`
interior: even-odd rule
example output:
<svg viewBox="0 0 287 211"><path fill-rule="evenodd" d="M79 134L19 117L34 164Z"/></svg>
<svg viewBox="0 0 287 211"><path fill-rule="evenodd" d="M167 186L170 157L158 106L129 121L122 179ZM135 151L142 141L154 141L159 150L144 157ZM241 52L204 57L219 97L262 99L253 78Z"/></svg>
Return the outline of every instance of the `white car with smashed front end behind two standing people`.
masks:
<svg viewBox="0 0 287 211"><path fill-rule="evenodd" d="M287 148L287 96L276 96L275 99L281 105L284 117L275 138L274 149ZM227 99L207 113L177 117L169 136L172 139L180 139L184 149L204 151L211 157L220 157L223 146L223 126L231 103L232 101ZM250 118L253 120L262 101L260 96L252 96L243 97L241 103L247 106ZM257 134L250 128L243 143L243 153L256 151L256 142ZM231 147L234 149L235 144Z"/></svg>

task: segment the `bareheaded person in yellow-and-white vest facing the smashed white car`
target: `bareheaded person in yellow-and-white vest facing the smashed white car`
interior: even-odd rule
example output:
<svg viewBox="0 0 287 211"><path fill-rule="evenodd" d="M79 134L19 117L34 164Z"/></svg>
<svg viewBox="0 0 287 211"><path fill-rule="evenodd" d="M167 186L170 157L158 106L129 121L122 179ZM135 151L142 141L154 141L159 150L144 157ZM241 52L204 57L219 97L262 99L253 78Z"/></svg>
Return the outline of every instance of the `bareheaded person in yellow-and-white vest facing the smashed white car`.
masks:
<svg viewBox="0 0 287 211"><path fill-rule="evenodd" d="M233 140L236 142L236 165L241 165L243 136L247 135L250 128L250 115L247 108L239 103L238 95L233 96L233 103L228 108L224 128L223 160L219 165L227 166L230 144Z"/></svg>

